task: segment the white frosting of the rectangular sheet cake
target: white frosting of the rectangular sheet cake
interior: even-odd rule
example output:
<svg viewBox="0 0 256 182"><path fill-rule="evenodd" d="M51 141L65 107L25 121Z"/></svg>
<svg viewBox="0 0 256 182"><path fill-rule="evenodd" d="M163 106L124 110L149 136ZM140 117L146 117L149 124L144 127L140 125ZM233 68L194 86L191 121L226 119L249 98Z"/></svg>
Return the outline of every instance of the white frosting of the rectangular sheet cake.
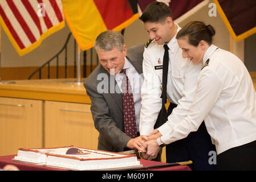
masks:
<svg viewBox="0 0 256 182"><path fill-rule="evenodd" d="M18 151L18 155L15 156L15 160L21 160L23 162L36 163L40 165L68 168L74 170L94 170L94 169L110 169L120 167L132 167L139 166L140 162L136 156L130 156L127 158L113 159L118 157L124 157L126 155L88 150L86 148L79 148L84 153L89 152L86 155L66 155L66 151L70 147L52 148L52 149L34 149L34 151ZM52 156L46 154L53 154L59 156ZM64 156L74 157L76 159L65 158ZM79 160L81 159L81 160ZM91 160L82 160L91 159ZM94 160L95 159L95 160Z"/></svg>

